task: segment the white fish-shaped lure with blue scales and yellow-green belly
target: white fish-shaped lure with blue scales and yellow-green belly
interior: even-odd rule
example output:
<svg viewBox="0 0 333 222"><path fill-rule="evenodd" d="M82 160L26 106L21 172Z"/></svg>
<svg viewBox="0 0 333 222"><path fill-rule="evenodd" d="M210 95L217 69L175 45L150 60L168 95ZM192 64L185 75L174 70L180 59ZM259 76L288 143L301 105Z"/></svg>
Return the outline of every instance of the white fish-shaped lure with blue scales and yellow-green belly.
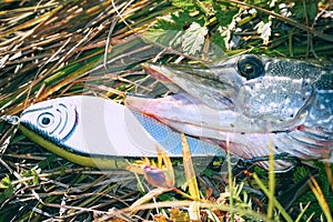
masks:
<svg viewBox="0 0 333 222"><path fill-rule="evenodd" d="M74 95L33 104L23 111L19 128L49 151L88 167L124 169L125 159L155 158L157 148L182 157L180 133L102 98ZM224 157L218 145L186 140L193 157Z"/></svg>

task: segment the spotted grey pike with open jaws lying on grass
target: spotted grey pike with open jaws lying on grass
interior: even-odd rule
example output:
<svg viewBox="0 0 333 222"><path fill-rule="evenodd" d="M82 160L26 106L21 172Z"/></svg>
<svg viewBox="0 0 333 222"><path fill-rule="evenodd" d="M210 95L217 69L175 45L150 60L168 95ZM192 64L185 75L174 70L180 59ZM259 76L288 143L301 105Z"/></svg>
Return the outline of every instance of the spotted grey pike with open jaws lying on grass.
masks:
<svg viewBox="0 0 333 222"><path fill-rule="evenodd" d="M333 162L332 67L246 54L210 67L144 68L175 94L129 97L130 109L223 148L229 140L245 159L268 155L272 142L275 154Z"/></svg>

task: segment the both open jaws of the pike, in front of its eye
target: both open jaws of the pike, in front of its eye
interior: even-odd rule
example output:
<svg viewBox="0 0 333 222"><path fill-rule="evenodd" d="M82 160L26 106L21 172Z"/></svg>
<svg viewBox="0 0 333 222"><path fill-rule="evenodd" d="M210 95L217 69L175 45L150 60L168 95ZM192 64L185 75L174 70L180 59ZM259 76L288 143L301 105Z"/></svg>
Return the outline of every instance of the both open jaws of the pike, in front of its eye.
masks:
<svg viewBox="0 0 333 222"><path fill-rule="evenodd" d="M228 132L266 133L262 124L235 111L238 81L234 61L222 65L159 65L144 63L148 74L161 81L174 94L148 99L128 95L128 108L155 118L186 134L226 139Z"/></svg>

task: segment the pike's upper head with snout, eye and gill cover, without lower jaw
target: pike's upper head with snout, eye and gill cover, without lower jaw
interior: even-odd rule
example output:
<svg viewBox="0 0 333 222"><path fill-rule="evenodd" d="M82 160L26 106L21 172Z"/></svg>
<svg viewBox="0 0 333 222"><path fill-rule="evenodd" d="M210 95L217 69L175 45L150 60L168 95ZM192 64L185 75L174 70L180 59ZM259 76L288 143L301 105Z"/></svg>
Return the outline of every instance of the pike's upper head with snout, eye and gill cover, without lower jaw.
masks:
<svg viewBox="0 0 333 222"><path fill-rule="evenodd" d="M212 109L233 110L272 131L304 121L320 71L306 62L254 54L204 67L144 64L144 69Z"/></svg>

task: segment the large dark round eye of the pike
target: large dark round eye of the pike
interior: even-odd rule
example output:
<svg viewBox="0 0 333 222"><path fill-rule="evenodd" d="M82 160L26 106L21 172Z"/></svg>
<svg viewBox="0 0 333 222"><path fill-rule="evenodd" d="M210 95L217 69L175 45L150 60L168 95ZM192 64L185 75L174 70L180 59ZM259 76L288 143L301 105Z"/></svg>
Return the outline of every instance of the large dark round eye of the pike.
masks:
<svg viewBox="0 0 333 222"><path fill-rule="evenodd" d="M255 56L245 56L238 61L238 70L246 80L263 75L264 65Z"/></svg>

